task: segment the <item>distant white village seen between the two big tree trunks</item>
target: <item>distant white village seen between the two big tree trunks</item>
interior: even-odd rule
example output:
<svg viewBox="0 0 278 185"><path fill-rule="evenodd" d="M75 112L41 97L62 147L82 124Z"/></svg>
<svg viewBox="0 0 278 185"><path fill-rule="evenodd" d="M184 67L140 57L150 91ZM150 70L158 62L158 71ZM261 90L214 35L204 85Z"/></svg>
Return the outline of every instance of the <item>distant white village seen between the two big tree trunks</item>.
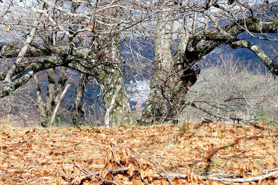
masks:
<svg viewBox="0 0 278 185"><path fill-rule="evenodd" d="M150 93L150 82L146 80L132 80L132 83L126 84L126 91L130 108L139 111L145 106Z"/></svg>

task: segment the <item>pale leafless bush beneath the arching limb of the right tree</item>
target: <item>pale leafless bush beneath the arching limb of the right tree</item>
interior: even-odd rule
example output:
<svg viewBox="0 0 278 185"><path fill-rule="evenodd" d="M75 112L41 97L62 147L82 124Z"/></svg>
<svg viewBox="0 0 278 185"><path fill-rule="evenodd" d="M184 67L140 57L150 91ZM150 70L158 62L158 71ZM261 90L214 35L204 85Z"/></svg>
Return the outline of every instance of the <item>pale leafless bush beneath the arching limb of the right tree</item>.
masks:
<svg viewBox="0 0 278 185"><path fill-rule="evenodd" d="M234 55L221 55L203 67L191 89L192 103L236 121L278 123L278 81L264 67L252 69Z"/></svg>

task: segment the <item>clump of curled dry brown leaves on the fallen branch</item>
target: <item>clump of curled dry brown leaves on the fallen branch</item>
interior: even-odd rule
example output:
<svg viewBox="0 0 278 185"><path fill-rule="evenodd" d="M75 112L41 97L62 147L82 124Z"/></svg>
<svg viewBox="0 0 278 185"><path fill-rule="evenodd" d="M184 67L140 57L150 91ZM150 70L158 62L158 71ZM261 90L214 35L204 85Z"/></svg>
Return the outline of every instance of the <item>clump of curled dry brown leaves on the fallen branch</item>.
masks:
<svg viewBox="0 0 278 185"><path fill-rule="evenodd" d="M153 164L145 161L130 152L128 147L119 147L110 144L103 157L104 169L97 169L94 173L77 165L71 166L68 171L63 166L58 170L57 185L70 184L95 184L100 181L115 184L143 184L151 183L154 177ZM118 170L115 170L118 169ZM115 170L115 171L113 171Z"/></svg>

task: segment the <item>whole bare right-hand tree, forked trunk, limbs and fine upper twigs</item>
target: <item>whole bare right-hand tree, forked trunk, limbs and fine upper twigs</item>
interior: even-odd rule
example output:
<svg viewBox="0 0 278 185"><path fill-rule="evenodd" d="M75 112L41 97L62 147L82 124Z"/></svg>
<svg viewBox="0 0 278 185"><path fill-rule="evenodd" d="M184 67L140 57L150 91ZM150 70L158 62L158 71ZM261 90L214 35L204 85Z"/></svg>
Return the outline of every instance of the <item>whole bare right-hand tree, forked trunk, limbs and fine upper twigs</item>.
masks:
<svg viewBox="0 0 278 185"><path fill-rule="evenodd" d="M140 118L143 123L175 122L188 103L184 101L185 94L199 76L197 62L222 44L230 45L233 49L250 49L273 75L278 75L277 63L260 47L237 38L239 34L247 32L252 35L260 33L266 40L277 41L273 35L267 35L278 31L277 15L274 13L276 2L271 6L255 1L236 1L233 4L227 4L226 1L164 3L167 3L168 9L161 9L162 13L158 15L162 18L157 21L158 34L154 36L157 47L153 74L155 80L151 82L150 96ZM184 11L186 8L189 10ZM179 23L178 31L174 30L169 20ZM174 33L179 33L179 44L171 57Z"/></svg>

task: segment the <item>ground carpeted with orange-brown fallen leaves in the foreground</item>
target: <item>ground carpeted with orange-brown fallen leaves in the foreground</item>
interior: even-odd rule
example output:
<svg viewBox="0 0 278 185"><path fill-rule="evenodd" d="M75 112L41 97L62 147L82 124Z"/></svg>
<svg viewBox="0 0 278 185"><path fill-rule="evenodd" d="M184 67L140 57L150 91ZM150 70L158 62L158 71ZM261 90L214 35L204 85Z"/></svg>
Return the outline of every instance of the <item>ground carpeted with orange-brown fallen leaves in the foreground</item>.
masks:
<svg viewBox="0 0 278 185"><path fill-rule="evenodd" d="M163 170L168 174L188 174L187 178L172 178L172 184L255 185L258 181L221 182L201 180L197 175L251 171L254 176L261 175L260 170L278 167L278 127L263 124L184 123L179 127L52 129L0 125L0 146L0 185L69 182L86 185L100 180L106 184L111 180L114 184L117 181L118 184L166 185L169 184L166 178L153 178ZM141 151L145 153L139 154ZM161 168L154 165L150 154ZM127 166L129 170L114 172L114 179L101 170ZM141 172L137 173L135 168ZM98 176L93 178L90 175L93 172L99 172ZM251 176L236 178L248 177ZM259 183L277 185L278 172Z"/></svg>

